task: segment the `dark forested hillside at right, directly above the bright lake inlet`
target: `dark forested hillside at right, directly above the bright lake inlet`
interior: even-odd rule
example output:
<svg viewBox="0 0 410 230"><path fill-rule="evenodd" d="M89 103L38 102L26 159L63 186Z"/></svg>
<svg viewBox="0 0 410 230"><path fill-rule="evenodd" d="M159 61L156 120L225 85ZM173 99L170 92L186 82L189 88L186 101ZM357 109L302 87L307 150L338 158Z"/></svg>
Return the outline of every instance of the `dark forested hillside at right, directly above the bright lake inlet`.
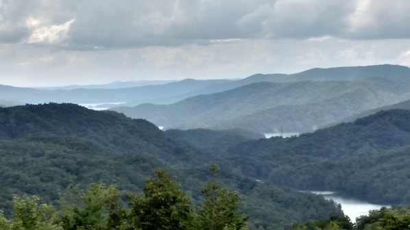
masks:
<svg viewBox="0 0 410 230"><path fill-rule="evenodd" d="M410 111L389 110L297 138L243 142L225 153L244 175L303 190L410 204Z"/></svg>

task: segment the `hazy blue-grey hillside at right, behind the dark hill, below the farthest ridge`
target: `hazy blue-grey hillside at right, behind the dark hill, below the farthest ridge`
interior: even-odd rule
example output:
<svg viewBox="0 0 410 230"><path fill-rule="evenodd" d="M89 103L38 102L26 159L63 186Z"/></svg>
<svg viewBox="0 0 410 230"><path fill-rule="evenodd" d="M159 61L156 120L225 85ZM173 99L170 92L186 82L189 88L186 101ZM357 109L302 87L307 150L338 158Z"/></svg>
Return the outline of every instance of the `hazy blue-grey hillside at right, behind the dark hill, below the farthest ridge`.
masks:
<svg viewBox="0 0 410 230"><path fill-rule="evenodd" d="M309 132L374 107L409 99L410 85L363 81L258 82L171 105L117 107L165 129L248 129L259 133Z"/></svg>

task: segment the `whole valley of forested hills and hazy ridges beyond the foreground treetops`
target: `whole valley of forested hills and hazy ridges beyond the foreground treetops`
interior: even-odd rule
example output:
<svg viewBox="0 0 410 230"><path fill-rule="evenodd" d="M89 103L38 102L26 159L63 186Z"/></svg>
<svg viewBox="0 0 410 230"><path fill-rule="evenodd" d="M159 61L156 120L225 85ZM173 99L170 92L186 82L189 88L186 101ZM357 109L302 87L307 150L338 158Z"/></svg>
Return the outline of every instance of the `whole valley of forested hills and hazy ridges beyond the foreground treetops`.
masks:
<svg viewBox="0 0 410 230"><path fill-rule="evenodd" d="M1 209L10 215L12 194L58 207L58 190L71 183L142 192L156 168L178 177L197 204L210 164L221 167L221 186L243 194L250 229L291 229L343 211L354 223L368 209L406 207L407 73L381 65L132 88L1 86ZM352 213L358 207L367 210Z"/></svg>

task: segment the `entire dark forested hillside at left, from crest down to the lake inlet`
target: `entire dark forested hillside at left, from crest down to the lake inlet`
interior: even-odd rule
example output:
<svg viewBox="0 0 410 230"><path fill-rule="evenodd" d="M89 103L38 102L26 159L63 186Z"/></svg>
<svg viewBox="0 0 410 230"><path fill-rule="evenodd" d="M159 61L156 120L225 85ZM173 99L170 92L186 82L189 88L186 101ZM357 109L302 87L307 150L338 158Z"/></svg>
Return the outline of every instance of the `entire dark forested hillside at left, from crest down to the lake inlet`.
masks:
<svg viewBox="0 0 410 230"><path fill-rule="evenodd" d="M198 203L211 162L223 163L219 182L243 194L241 209L254 228L341 215L340 207L321 196L232 173L223 159L174 142L146 120L115 112L56 103L1 108L0 139L0 209L7 215L12 194L36 194L58 205L58 190L99 180L140 192L155 168L178 176Z"/></svg>

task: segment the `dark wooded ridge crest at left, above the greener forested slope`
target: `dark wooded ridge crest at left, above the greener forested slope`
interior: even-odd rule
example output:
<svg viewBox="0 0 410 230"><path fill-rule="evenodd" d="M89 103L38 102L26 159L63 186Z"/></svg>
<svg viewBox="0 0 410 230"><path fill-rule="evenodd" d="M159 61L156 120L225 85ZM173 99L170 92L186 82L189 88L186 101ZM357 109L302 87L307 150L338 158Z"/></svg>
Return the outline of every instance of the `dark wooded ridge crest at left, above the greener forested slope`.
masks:
<svg viewBox="0 0 410 230"><path fill-rule="evenodd" d="M171 165L197 164L201 154L182 149L146 120L97 112L73 104L24 105L0 109L0 138L76 136L120 153L154 155Z"/></svg>

